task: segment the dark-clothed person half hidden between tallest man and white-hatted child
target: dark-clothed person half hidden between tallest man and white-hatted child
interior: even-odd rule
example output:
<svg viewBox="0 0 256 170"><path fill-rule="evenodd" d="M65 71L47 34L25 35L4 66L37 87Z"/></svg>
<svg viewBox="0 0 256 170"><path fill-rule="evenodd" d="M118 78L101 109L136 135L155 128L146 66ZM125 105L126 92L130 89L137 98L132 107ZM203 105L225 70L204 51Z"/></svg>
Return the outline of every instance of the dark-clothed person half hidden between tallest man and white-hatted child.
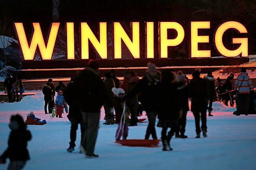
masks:
<svg viewBox="0 0 256 170"><path fill-rule="evenodd" d="M106 74L104 75L103 83L105 85L106 91L108 92L108 95L109 95L112 103L114 103L114 94L112 92L112 88L115 87L115 82L111 78L111 72L106 72ZM115 123L114 108L109 107L106 104L104 104L103 106L104 106L105 117L106 117L106 121L105 121L104 125L113 125Z"/></svg>

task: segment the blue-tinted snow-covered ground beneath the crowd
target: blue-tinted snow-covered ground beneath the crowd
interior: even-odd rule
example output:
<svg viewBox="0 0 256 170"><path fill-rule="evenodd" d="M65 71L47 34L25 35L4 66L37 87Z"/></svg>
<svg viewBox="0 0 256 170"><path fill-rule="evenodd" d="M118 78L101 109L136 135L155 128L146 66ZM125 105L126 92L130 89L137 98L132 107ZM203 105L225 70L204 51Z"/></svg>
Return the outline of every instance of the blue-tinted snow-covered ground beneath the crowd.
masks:
<svg viewBox="0 0 256 170"><path fill-rule="evenodd" d="M50 119L43 111L42 94L26 96L19 103L0 104L0 153L7 147L9 135L8 121L11 114L19 113L26 117L34 111L37 117L46 119L44 126L28 126L33 139L28 149L31 160L26 169L255 169L256 157L256 116L234 116L236 109L214 103L214 117L207 117L208 137L196 139L194 117L187 115L186 134L188 139L173 139L172 152L162 152L158 148L122 147L114 143L117 125L105 126L101 122L96 153L97 159L86 159L79 154L80 132L76 142L76 150L66 152L69 145L70 123L67 114L64 118ZM147 123L138 127L130 127L130 139L142 139ZM161 129L157 128L158 137ZM0 169L7 169L0 165Z"/></svg>

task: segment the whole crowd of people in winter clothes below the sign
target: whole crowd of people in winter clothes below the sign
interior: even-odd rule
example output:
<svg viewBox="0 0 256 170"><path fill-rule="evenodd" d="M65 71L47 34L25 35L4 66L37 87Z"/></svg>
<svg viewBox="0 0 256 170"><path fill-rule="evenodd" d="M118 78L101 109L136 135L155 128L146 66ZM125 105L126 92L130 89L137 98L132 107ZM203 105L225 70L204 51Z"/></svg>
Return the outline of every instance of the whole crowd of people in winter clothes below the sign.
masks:
<svg viewBox="0 0 256 170"><path fill-rule="evenodd" d="M233 92L236 93L237 115L249 114L251 107L255 111L255 104L250 102L251 96L255 99L254 89L246 74L246 68L241 69L233 87L233 74L230 74L224 83L219 78L216 80L211 71L201 78L200 69L196 69L192 75L193 79L188 81L182 71L178 71L177 74L169 69L159 71L154 63L148 63L147 66L148 69L142 79L139 79L134 71L127 69L123 83L120 83L115 76L115 70L106 72L102 79L98 62L90 60L88 66L77 77L71 78L67 87L63 82L59 82L59 85L54 87L53 80L48 80L42 89L45 95L45 114L52 113L54 107L57 109L56 117L61 118L64 109L69 112L71 130L68 152L74 151L76 131L80 124L80 152L89 158L98 157L94 150L102 106L105 110L104 125L118 124L116 140L128 137L129 126L137 126L138 116L142 114L142 110L146 112L148 118L144 139L147 140L150 137L158 139L155 128L158 118L157 127L162 128L163 151L173 150L170 140L174 135L176 138L187 138L185 135L186 115L189 110L195 117L196 138L201 137L201 132L203 137L207 137L207 110L208 116L212 116L212 102L216 98L220 101L224 100L226 105L230 101L232 106L231 93ZM12 79L8 76L5 85L9 93L13 88L10 84L12 84ZM17 78L14 84L16 87L21 87L22 81ZM16 92L20 91L20 88L16 89ZM57 97L54 102L55 92L57 92ZM13 92L12 94L14 95ZM189 99L191 99L190 109ZM67 105L69 105L69 110ZM15 119L12 117L10 128L12 131L18 129L26 133L27 138L24 140L24 146L26 146L31 135L29 136L29 131L19 119L17 115ZM13 121L18 122L18 128L12 126ZM14 132L11 134L14 135ZM13 144L10 143L9 147L0 157L2 162L7 157L11 158L9 154L12 152ZM27 159L29 157L26 157ZM20 166L24 166L26 160L20 162Z"/></svg>

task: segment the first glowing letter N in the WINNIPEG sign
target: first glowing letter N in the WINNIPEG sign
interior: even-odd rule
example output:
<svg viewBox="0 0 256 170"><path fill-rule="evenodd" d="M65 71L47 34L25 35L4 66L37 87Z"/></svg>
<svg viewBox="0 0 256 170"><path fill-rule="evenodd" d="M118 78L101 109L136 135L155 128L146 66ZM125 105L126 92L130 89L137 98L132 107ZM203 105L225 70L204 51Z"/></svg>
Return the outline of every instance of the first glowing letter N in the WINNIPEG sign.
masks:
<svg viewBox="0 0 256 170"><path fill-rule="evenodd" d="M89 59L89 40L102 59L107 59L106 22L99 22L99 41L93 34L87 22L81 22L81 55Z"/></svg>

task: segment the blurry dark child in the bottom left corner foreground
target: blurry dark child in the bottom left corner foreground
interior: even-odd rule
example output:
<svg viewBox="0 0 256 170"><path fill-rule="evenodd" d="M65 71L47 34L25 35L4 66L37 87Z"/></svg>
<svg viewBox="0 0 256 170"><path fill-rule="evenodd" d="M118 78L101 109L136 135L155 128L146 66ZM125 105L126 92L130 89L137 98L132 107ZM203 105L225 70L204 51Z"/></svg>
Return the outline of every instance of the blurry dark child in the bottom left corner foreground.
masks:
<svg viewBox="0 0 256 170"><path fill-rule="evenodd" d="M8 148L0 156L0 163L6 163L6 159L10 159L8 170L23 169L26 162L30 159L27 149L28 141L31 140L32 135L27 130L22 116L12 115L9 127L11 133L8 140Z"/></svg>

